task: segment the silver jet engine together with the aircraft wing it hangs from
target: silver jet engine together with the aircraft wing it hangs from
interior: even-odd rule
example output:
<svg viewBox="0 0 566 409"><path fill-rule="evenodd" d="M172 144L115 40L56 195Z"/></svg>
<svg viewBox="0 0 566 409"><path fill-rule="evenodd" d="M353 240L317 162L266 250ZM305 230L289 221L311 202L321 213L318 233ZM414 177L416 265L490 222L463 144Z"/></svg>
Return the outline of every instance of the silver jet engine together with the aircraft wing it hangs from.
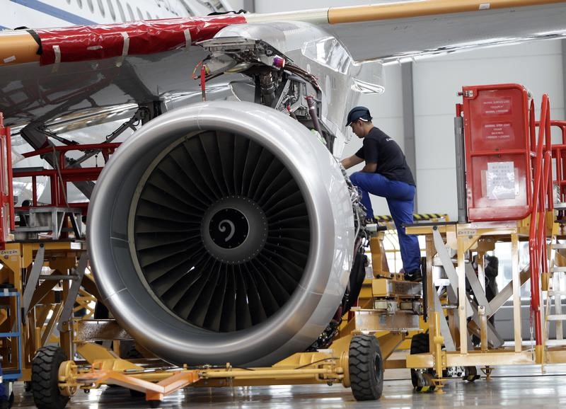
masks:
<svg viewBox="0 0 566 409"><path fill-rule="evenodd" d="M139 122L96 186L77 183L100 301L168 362L269 365L348 304L364 209L336 159L383 64L562 38L565 14L424 0L5 30L0 111L35 149Z"/></svg>

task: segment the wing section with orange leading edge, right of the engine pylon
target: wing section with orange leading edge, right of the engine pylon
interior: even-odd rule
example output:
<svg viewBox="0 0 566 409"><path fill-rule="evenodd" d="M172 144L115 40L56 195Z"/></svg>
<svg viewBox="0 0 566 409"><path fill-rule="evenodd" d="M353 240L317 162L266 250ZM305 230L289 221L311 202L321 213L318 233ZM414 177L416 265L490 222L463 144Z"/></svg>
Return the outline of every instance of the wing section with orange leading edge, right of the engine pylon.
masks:
<svg viewBox="0 0 566 409"><path fill-rule="evenodd" d="M565 17L562 1L412 1L329 11L328 30L354 59L390 62L561 38Z"/></svg>

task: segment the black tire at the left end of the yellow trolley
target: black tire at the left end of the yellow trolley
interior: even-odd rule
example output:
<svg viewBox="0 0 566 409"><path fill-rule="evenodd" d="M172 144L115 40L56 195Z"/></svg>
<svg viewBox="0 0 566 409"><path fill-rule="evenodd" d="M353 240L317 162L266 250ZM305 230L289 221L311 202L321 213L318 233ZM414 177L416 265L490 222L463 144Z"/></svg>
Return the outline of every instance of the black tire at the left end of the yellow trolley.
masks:
<svg viewBox="0 0 566 409"><path fill-rule="evenodd" d="M59 366L69 360L61 347L49 345L37 350L31 369L31 391L37 409L63 409L69 396L59 390Z"/></svg>

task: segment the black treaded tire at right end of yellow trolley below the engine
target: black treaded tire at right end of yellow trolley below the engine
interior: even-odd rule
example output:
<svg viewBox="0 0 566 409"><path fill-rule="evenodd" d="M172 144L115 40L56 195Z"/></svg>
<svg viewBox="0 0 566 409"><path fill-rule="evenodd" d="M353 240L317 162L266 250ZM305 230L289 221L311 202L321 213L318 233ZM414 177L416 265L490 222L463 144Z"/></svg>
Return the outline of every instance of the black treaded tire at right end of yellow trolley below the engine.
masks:
<svg viewBox="0 0 566 409"><path fill-rule="evenodd" d="M350 384L356 401L377 401L383 392L383 358L374 335L355 335L350 341Z"/></svg>

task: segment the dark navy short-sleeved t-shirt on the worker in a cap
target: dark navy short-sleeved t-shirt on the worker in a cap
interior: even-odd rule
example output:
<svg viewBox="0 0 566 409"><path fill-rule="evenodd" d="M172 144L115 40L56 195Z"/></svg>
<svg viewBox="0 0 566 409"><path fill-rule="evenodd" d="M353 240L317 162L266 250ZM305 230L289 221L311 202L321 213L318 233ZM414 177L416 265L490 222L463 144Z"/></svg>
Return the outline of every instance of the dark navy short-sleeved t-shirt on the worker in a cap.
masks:
<svg viewBox="0 0 566 409"><path fill-rule="evenodd" d="M415 179L405 161L405 155L397 142L388 137L381 129L373 127L366 137L364 146L356 152L358 158L366 163L377 163L375 173L380 173L389 180L398 180L415 186Z"/></svg>

